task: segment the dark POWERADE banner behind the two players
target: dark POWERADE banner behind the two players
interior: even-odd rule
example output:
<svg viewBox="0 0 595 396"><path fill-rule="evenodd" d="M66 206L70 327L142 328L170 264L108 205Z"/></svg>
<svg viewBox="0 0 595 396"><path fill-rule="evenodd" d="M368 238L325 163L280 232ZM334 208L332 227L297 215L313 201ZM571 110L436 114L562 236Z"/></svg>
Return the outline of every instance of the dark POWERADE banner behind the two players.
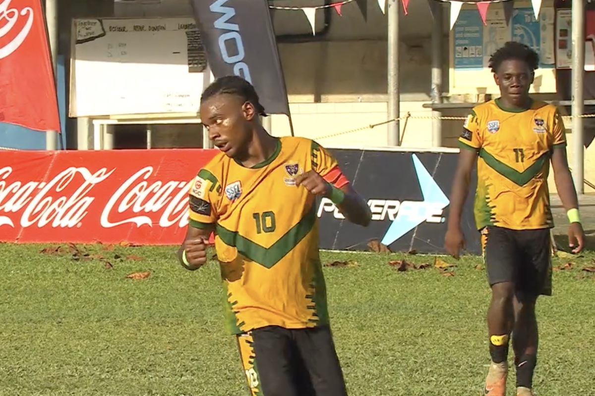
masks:
<svg viewBox="0 0 595 396"><path fill-rule="evenodd" d="M330 200L318 202L320 247L332 250L368 250L378 240L393 252L444 251L449 196L458 153L412 153L329 149L353 187L372 210L364 228L343 220ZM464 205L461 227L466 251L481 253L473 217L475 171Z"/></svg>

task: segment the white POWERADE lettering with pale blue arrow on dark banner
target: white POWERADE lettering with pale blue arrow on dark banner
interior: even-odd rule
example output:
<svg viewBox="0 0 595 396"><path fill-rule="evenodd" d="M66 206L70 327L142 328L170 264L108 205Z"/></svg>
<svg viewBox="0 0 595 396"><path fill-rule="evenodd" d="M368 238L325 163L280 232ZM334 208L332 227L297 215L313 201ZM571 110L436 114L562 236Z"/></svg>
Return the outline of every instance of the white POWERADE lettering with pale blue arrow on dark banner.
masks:
<svg viewBox="0 0 595 396"><path fill-rule="evenodd" d="M423 197L422 201L397 201L394 199L369 199L368 206L372 211L372 220L383 221L388 218L392 223L384 234L381 243L389 246L400 237L415 229L419 224L444 223L444 208L450 201L434 181L424 165L415 154L412 154L415 173ZM322 198L318 208L318 217L323 212L333 212L335 218L343 219L330 199Z"/></svg>

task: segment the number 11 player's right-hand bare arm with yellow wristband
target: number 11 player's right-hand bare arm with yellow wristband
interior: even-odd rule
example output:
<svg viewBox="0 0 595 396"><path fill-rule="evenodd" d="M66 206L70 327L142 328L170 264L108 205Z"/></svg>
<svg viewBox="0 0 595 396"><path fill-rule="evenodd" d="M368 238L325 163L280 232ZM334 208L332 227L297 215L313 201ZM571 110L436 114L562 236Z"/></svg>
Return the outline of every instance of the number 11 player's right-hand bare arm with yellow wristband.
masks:
<svg viewBox="0 0 595 396"><path fill-rule="evenodd" d="M556 189L562 205L568 213L570 226L568 227L568 245L573 253L578 253L583 249L585 233L578 216L578 198L577 191L572 182L572 175L568 168L568 159L566 159L566 147L554 147L552 152L552 170Z"/></svg>

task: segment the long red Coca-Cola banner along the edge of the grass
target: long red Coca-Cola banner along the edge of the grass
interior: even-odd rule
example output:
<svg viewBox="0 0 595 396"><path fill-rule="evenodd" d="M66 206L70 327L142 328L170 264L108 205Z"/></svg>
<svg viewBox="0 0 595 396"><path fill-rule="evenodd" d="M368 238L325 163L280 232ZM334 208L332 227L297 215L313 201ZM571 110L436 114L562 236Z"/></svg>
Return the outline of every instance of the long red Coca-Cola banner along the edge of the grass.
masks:
<svg viewBox="0 0 595 396"><path fill-rule="evenodd" d="M178 245L218 150L4 151L0 240Z"/></svg>

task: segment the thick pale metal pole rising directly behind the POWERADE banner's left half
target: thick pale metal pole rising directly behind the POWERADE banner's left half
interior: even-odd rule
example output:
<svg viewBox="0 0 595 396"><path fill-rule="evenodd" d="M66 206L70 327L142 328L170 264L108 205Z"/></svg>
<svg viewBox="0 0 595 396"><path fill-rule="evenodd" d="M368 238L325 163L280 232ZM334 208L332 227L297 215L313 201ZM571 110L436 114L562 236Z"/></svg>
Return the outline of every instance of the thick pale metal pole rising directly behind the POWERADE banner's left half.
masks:
<svg viewBox="0 0 595 396"><path fill-rule="evenodd" d="M389 100L387 101L389 119L399 118L399 4L400 0L389 0L389 37L388 37L388 75ZM389 123L389 146L398 146L400 142L399 121Z"/></svg>

